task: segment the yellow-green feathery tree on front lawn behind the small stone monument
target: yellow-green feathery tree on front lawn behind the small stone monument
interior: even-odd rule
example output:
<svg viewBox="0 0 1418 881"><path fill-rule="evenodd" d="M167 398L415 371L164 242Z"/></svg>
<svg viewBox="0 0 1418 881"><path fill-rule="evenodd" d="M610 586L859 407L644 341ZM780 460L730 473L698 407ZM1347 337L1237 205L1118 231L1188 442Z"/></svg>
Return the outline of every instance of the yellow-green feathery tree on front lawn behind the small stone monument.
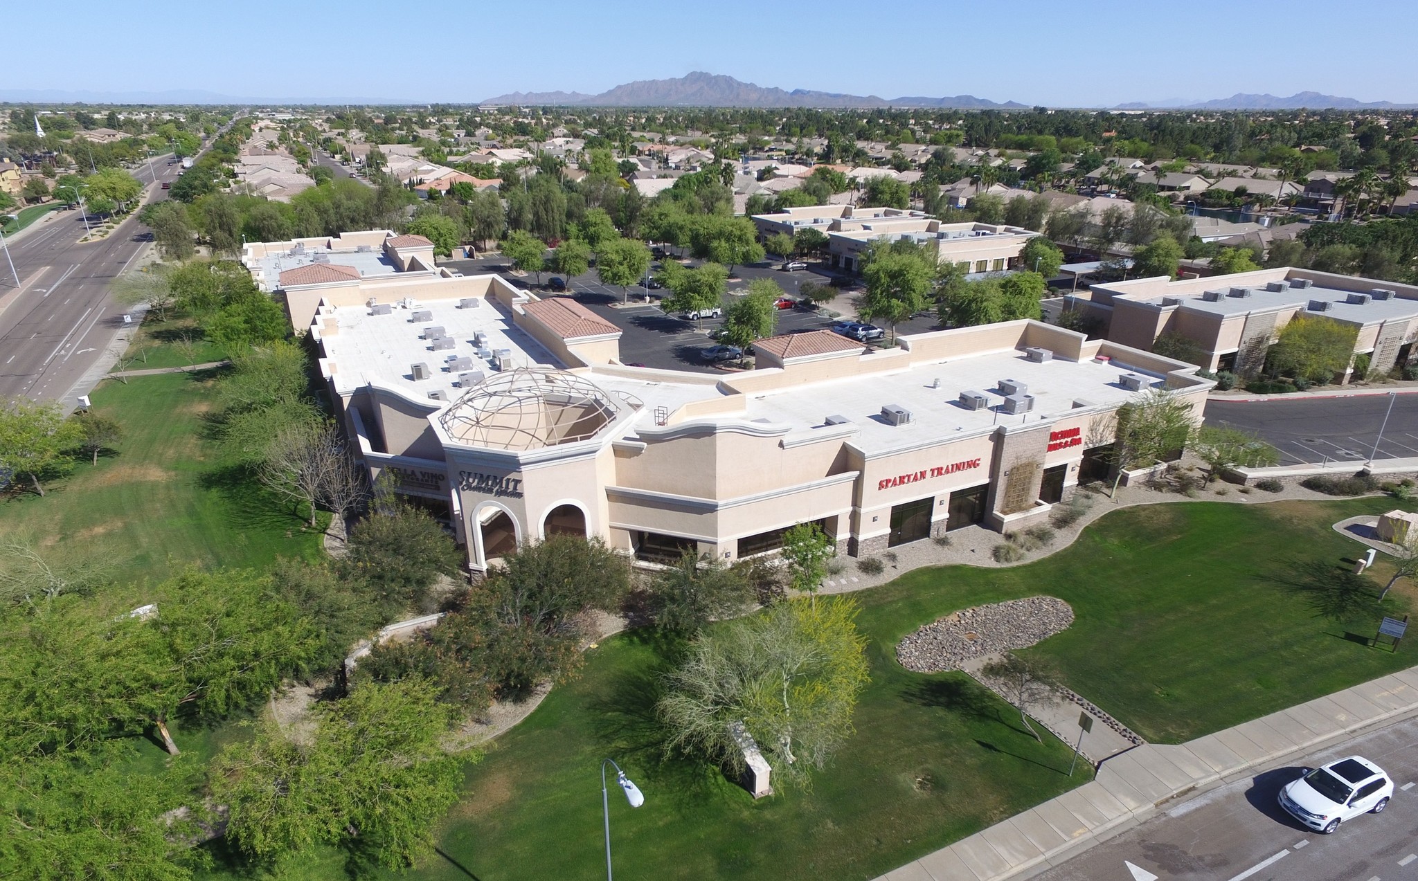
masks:
<svg viewBox="0 0 1418 881"><path fill-rule="evenodd" d="M729 731L742 722L774 779L807 785L852 734L868 681L855 619L851 599L795 599L698 636L665 678L665 748L742 772Z"/></svg>

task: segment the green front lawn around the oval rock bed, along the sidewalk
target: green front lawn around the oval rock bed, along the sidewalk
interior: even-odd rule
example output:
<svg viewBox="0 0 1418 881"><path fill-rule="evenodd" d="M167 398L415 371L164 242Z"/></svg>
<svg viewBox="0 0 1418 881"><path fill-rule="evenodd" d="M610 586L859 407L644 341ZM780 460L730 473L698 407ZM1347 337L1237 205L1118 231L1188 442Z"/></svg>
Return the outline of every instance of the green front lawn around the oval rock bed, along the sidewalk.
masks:
<svg viewBox="0 0 1418 881"><path fill-rule="evenodd" d="M1356 552L1332 523L1392 507L1364 499L1130 508L1035 564L919 569L864 591L872 681L856 735L811 792L759 803L713 771L662 761L648 710L664 660L637 635L607 640L580 678L469 769L440 834L442 854L410 877L596 877L603 756L623 761L647 796L631 810L611 793L623 877L875 877L1088 779L1066 778L1068 748L1037 744L967 677L899 667L900 636L981 602L1061 596L1075 625L1034 652L1144 737L1188 739L1414 663L1408 647L1394 654L1346 637L1371 636L1377 622L1332 623L1283 584L1306 562ZM1394 593L1394 610L1412 605L1411 591ZM330 851L296 864L281 877L342 877Z"/></svg>

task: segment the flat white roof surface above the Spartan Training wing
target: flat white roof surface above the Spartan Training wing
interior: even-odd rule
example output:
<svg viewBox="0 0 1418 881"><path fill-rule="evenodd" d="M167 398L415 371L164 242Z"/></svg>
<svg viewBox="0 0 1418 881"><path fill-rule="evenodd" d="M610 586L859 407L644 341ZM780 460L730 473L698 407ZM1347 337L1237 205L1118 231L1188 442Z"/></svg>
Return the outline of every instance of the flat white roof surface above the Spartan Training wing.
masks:
<svg viewBox="0 0 1418 881"><path fill-rule="evenodd" d="M899 373L832 380L753 395L747 409L750 419L790 424L794 429L820 428L828 416L847 416L859 429L856 445L871 455L986 433L995 425L1054 419L1078 409L1078 401L1119 405L1137 394L1119 382L1124 373L1149 377L1153 385L1163 381L1154 373L1116 363L1055 358L1038 364L1029 361L1022 351L1000 350L954 361L920 364ZM939 388L934 385L937 378ZM1028 387L1025 394L1034 395L1034 409L1024 415L1005 414L1000 408L1004 401L1000 380L1024 382ZM963 391L984 392L988 407L967 409L960 404ZM886 405L910 411L910 422L889 424L881 415Z"/></svg>

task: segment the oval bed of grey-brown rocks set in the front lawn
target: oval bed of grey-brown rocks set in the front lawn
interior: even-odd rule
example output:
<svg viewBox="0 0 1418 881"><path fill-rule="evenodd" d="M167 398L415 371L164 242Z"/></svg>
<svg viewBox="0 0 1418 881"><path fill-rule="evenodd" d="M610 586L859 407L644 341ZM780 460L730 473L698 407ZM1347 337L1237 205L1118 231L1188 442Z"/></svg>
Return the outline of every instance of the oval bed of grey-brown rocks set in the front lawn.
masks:
<svg viewBox="0 0 1418 881"><path fill-rule="evenodd" d="M1055 596L1027 596L961 609L896 644L896 660L916 673L959 670L986 654L1027 649L1068 630L1073 608Z"/></svg>

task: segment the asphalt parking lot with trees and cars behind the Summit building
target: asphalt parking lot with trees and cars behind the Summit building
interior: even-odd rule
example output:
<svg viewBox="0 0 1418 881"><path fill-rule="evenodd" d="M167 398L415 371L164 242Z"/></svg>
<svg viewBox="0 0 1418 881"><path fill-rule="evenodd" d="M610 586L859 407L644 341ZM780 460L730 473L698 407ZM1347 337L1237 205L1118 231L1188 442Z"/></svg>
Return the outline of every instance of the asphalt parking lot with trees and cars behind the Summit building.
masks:
<svg viewBox="0 0 1418 881"><path fill-rule="evenodd" d="M692 261L691 265L698 263L698 261ZM535 273L527 276L512 275L508 261L498 255L471 261L442 261L440 265L457 269L464 275L496 272L518 288L536 289L540 296L550 295L549 290L536 286L537 276ZM651 272L654 272L654 268ZM554 275L553 272L543 272L540 278L542 283L545 285ZM795 299L803 282L825 285L832 276L817 266L810 266L810 269L800 272L783 272L777 269L777 263L767 262L753 266L735 266L735 280L729 282L729 296L742 293L747 289L749 282L761 278L771 279L783 288L787 296ZM567 293L574 296L587 309L621 329L620 350L624 363L669 370L722 373L719 367L706 364L699 353L715 344L710 334L723 326L723 319L703 319L696 323L679 316L666 314L658 306L659 296L665 293L664 290L647 292L645 288L603 285L594 271L567 279ZM649 295L648 302L647 293ZM781 309L778 310L777 333L822 330L831 327L835 322L855 317L851 312L844 313L841 317L831 317L822 309ZM910 322L902 322L896 326L896 333L922 333L936 329L939 329L939 322L934 314L926 314Z"/></svg>

